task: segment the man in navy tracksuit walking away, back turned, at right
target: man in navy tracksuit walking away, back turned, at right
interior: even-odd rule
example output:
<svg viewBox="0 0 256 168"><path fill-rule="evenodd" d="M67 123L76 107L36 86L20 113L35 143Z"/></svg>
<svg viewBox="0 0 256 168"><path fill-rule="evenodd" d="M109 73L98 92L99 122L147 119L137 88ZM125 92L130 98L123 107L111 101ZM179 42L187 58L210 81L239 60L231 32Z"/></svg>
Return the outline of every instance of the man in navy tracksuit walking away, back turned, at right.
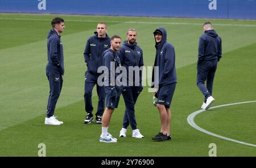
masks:
<svg viewBox="0 0 256 168"><path fill-rule="evenodd" d="M204 34L199 38L197 80L196 84L204 94L202 109L209 109L215 101L212 97L213 79L217 69L217 62L221 59L221 38L209 22L203 25ZM207 87L205 87L207 81Z"/></svg>

